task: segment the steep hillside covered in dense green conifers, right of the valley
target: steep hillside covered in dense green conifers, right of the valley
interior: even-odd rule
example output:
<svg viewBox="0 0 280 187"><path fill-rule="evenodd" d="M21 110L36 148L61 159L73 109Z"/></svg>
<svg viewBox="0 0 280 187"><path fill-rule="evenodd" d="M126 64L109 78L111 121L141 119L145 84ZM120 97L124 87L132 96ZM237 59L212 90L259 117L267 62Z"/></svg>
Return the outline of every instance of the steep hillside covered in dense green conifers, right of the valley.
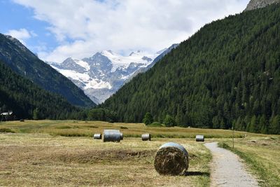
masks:
<svg viewBox="0 0 280 187"><path fill-rule="evenodd" d="M100 107L178 125L280 133L280 6L205 25Z"/></svg>

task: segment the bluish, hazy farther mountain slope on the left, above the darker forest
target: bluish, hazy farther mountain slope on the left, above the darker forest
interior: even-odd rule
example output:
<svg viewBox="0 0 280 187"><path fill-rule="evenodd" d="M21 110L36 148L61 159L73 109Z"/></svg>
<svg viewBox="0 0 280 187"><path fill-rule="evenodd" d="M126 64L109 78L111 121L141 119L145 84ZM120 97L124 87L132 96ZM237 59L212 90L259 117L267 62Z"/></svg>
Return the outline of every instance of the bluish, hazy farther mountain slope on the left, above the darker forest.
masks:
<svg viewBox="0 0 280 187"><path fill-rule="evenodd" d="M94 106L80 88L31 53L17 39L0 34L0 60L20 76L65 97L76 106Z"/></svg>

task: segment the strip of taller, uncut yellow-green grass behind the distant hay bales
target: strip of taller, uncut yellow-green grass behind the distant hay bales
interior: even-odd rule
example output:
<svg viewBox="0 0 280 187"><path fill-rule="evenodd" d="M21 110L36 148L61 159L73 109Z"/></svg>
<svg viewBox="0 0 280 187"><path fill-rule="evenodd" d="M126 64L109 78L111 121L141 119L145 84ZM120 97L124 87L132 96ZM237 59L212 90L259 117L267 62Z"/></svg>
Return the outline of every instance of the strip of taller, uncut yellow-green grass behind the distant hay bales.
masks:
<svg viewBox="0 0 280 187"><path fill-rule="evenodd" d="M209 130L183 127L147 127L143 123L107 123L102 121L77 120L25 120L25 122L10 121L0 123L0 129L10 129L13 132L45 133L65 137L92 137L94 133L102 133L104 129L118 129L125 137L141 137L141 134L151 133L152 137L162 138L195 138L203 134L206 138L230 138L230 130ZM244 134L254 137L265 137L262 134L235 132L235 137Z"/></svg>

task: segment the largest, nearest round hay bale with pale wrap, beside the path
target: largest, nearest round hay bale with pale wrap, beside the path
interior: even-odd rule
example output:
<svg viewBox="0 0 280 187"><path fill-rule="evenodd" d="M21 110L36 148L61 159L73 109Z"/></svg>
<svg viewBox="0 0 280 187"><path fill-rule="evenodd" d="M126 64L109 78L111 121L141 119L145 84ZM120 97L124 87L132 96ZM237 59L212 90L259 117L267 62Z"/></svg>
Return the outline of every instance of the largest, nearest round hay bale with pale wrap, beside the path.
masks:
<svg viewBox="0 0 280 187"><path fill-rule="evenodd" d="M188 151L173 142L163 144L155 155L154 166L159 174L185 174L188 169Z"/></svg>

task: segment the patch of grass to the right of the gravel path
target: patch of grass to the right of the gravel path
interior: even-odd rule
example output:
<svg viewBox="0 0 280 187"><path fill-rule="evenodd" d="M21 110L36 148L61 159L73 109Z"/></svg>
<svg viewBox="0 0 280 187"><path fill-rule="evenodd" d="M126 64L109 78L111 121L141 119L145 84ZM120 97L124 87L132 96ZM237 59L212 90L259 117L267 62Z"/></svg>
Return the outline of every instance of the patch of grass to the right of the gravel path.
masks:
<svg viewBox="0 0 280 187"><path fill-rule="evenodd" d="M280 137L248 137L232 142L222 140L219 146L237 153L258 176L260 186L280 186Z"/></svg>

